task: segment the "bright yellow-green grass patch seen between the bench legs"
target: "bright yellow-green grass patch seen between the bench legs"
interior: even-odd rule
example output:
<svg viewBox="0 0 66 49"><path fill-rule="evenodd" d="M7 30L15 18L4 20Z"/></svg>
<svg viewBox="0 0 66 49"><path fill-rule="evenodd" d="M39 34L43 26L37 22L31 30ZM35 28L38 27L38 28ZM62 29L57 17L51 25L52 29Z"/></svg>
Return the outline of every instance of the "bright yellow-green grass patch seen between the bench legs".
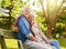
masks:
<svg viewBox="0 0 66 49"><path fill-rule="evenodd" d="M6 39L8 49L18 49L18 41L14 39Z"/></svg>

